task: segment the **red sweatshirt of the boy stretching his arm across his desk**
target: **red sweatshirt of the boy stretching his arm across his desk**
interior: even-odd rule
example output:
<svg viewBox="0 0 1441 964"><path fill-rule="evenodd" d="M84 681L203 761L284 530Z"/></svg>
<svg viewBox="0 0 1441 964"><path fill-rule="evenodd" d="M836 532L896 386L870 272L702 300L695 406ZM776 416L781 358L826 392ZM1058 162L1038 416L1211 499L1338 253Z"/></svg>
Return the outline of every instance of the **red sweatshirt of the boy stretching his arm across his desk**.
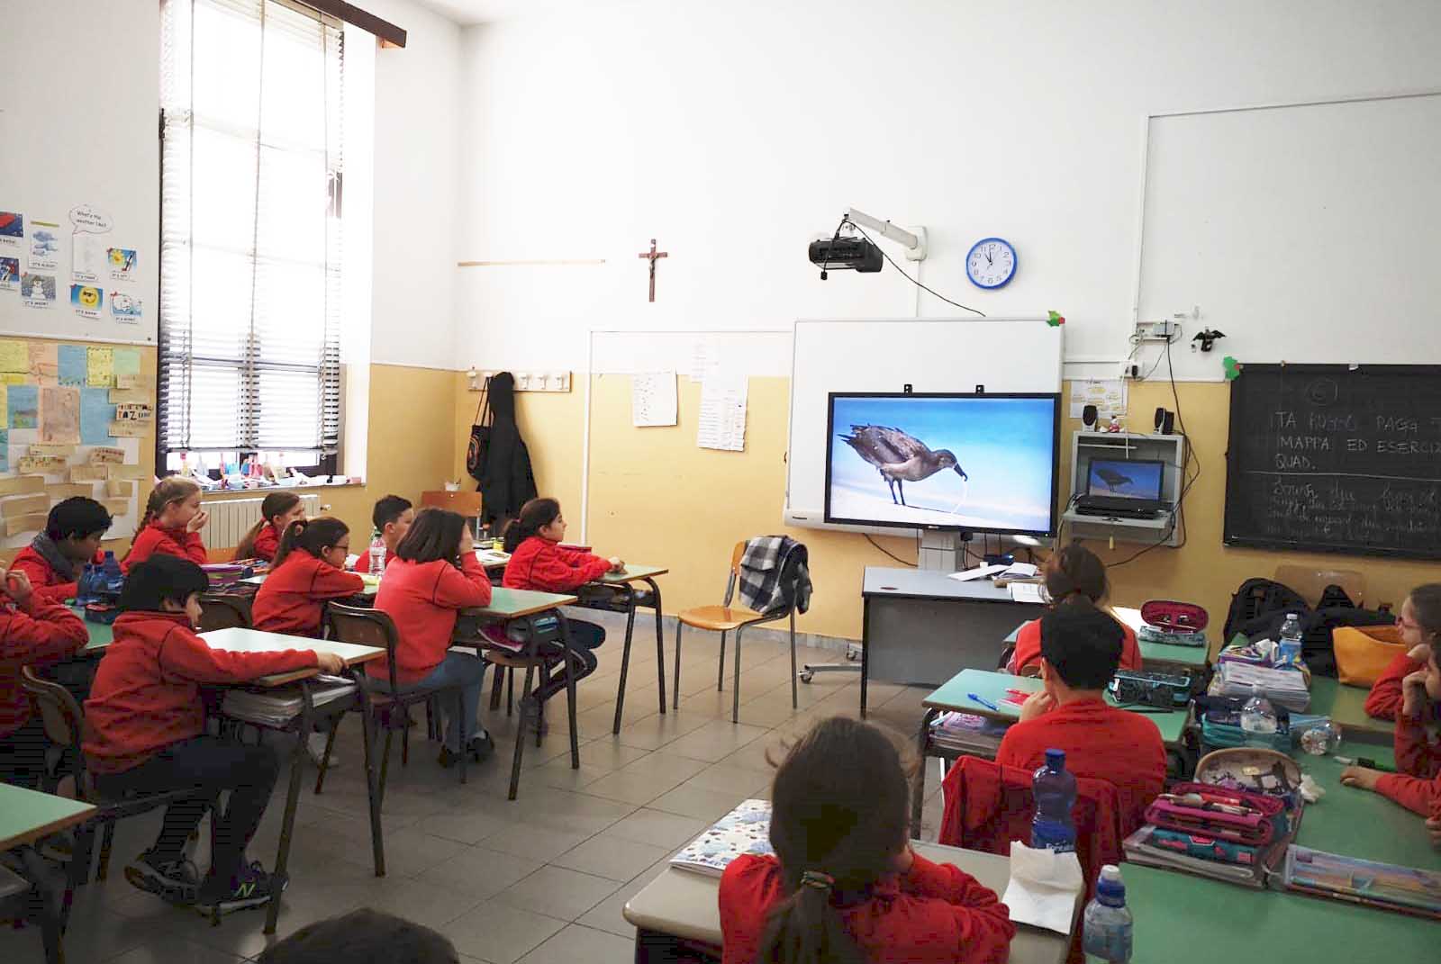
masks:
<svg viewBox="0 0 1441 964"><path fill-rule="evenodd" d="M212 650L184 612L124 612L114 628L115 641L85 700L82 749L98 774L133 769L170 744L199 736L202 684L246 683L316 666L311 650Z"/></svg>

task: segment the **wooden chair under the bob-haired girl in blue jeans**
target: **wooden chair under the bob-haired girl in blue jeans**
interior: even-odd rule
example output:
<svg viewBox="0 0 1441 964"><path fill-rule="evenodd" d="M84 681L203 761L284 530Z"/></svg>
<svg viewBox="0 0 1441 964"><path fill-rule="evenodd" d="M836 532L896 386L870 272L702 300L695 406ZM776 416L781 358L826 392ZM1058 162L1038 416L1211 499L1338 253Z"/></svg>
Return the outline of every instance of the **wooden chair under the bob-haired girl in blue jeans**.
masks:
<svg viewBox="0 0 1441 964"><path fill-rule="evenodd" d="M399 692L399 683L395 679L395 650L401 643L401 633L395 628L395 622L391 617L379 610L369 610L363 607L342 605L339 602L331 602L330 610L330 638L339 640L340 643L356 643L360 646L378 646L385 647L386 664L389 669L389 676L386 682L389 683L389 690L382 690L375 686L366 673L357 673L356 679L360 680L362 690L362 712L372 713L376 725L385 729L385 749L380 757L380 787L379 797L385 800L385 780L391 767L391 739L395 736L395 731L401 731L401 765L405 767L411 761L411 708L412 706L427 706L431 697L440 697L445 695L452 695L460 702L460 687L429 687L429 689L414 689L406 692ZM465 752L465 741L470 738L467 728L473 725L474 720L460 720L460 781L465 782L465 761L468 754ZM330 748L336 741L336 729L340 728L339 720L336 726L331 728L330 736L326 739L326 755L320 761L320 775L316 778L316 793L320 793L321 781L326 775L326 767L330 764ZM437 728L438 729L438 728Z"/></svg>

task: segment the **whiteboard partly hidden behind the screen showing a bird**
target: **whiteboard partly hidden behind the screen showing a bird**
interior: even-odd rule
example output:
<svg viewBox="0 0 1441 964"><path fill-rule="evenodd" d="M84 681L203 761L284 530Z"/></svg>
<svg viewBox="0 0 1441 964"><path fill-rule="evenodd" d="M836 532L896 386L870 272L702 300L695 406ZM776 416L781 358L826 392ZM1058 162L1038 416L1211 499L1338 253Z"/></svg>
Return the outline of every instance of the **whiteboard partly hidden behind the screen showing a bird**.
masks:
<svg viewBox="0 0 1441 964"><path fill-rule="evenodd" d="M1045 318L800 320L785 522L824 523L831 392L1059 392L1065 329Z"/></svg>

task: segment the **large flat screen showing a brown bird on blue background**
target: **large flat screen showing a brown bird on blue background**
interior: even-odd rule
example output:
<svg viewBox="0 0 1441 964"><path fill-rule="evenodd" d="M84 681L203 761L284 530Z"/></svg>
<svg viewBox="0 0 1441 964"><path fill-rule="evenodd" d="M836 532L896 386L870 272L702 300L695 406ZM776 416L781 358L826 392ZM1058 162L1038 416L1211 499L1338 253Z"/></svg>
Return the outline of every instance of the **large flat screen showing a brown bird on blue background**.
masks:
<svg viewBox="0 0 1441 964"><path fill-rule="evenodd" d="M1055 393L830 395L826 522L1050 536Z"/></svg>

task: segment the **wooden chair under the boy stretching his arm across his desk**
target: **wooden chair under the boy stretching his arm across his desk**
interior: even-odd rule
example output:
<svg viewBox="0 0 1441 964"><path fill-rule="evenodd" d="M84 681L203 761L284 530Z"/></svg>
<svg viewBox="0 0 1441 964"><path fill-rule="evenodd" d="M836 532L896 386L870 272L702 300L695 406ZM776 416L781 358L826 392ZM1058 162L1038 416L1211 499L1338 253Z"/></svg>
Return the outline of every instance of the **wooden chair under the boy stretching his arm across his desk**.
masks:
<svg viewBox="0 0 1441 964"><path fill-rule="evenodd" d="M177 800L193 800L197 794L195 790L171 790L118 800L101 797L95 790L95 781L89 769L85 767L85 754L81 751L81 741L85 733L85 715L79 703L59 683L52 683L36 676L35 669L30 666L20 670L20 684L30 696L30 702L40 716L46 738L65 751L62 761L73 768L72 772L62 775L73 777L76 800L97 807L95 816L75 831L75 850L71 857L71 885L79 886L89 879L95 827L104 827L99 844L99 866L95 870L95 876L104 880L110 870L110 850L115 840L117 821L127 817L137 817Z"/></svg>

